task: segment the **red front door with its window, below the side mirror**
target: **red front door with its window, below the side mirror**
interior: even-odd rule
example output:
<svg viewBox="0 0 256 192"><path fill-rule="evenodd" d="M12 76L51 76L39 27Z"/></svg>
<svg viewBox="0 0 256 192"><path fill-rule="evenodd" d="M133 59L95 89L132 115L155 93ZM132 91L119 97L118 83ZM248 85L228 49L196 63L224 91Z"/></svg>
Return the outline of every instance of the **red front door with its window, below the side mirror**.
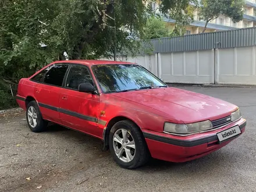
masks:
<svg viewBox="0 0 256 192"><path fill-rule="evenodd" d="M62 124L102 138L102 130L98 129L99 95L81 93L79 84L94 85L87 66L72 65L66 83L59 94L59 112Z"/></svg>

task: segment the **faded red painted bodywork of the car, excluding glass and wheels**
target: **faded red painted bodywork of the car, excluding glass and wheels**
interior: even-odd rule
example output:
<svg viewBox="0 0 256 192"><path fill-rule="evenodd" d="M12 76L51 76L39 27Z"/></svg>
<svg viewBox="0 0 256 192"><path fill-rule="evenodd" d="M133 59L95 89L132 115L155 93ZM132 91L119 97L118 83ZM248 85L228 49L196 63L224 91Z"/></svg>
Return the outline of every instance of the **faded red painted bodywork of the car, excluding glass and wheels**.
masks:
<svg viewBox="0 0 256 192"><path fill-rule="evenodd" d="M113 61L80 60L58 61L54 63L79 63L88 66L90 71L91 65L111 65L117 63L130 64ZM54 63L51 63L50 65ZM46 67L44 67L44 69ZM117 116L123 116L133 120L144 133L151 133L156 136L180 141L190 141L212 136L219 131L228 129L232 126L242 125L246 122L246 120L240 119L221 129L208 131L207 133L197 133L186 137L165 134L163 133L163 125L165 122L194 123L203 120L216 120L230 115L232 112L236 111L237 106L207 95L172 87L104 94L98 86L98 82L92 71L91 75L97 85L99 94L93 95L80 93L62 87L49 86L31 81L30 79L37 73L30 78L20 80L17 96L24 99L33 97L38 103L51 105L59 109L66 109L68 111L105 121L106 125L104 126L97 122L76 118L40 106L42 117L45 120L50 120L60 125L79 130L94 137L101 138L102 140L104 139L104 128L112 118ZM17 99L17 103L21 108L26 110L24 101ZM102 111L105 111L105 114L102 113ZM243 133L244 129L241 131ZM152 157L173 162L184 162L202 157L209 154L209 152L225 146L231 140L229 139L221 144L216 140L194 147L181 147L146 138Z"/></svg>

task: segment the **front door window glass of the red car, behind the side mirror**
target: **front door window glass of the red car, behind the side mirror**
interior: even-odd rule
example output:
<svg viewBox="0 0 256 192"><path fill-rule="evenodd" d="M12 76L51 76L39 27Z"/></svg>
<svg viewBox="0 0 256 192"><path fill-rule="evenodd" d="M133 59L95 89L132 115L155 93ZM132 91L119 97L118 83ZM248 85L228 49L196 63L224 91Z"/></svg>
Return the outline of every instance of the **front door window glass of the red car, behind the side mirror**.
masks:
<svg viewBox="0 0 256 192"><path fill-rule="evenodd" d="M81 83L91 83L93 85L90 72L85 66L74 65L70 69L69 76L67 77L66 87L78 90L79 84Z"/></svg>

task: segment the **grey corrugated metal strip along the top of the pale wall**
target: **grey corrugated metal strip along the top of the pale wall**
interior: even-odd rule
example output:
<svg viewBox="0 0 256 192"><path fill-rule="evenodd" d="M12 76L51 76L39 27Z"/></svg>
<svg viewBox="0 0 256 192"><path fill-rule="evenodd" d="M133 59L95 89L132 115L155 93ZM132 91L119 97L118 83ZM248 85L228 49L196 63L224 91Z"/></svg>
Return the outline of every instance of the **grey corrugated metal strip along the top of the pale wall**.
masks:
<svg viewBox="0 0 256 192"><path fill-rule="evenodd" d="M256 27L214 33L158 38L150 41L153 53L249 47L256 45Z"/></svg>

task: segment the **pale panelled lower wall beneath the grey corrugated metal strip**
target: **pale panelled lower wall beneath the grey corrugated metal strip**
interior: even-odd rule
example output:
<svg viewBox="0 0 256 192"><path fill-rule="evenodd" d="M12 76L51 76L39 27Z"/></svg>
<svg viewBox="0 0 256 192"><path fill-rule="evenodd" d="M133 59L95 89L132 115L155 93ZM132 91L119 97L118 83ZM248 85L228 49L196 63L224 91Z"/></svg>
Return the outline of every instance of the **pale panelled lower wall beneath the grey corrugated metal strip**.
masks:
<svg viewBox="0 0 256 192"><path fill-rule="evenodd" d="M166 83L256 85L256 46L123 56Z"/></svg>

